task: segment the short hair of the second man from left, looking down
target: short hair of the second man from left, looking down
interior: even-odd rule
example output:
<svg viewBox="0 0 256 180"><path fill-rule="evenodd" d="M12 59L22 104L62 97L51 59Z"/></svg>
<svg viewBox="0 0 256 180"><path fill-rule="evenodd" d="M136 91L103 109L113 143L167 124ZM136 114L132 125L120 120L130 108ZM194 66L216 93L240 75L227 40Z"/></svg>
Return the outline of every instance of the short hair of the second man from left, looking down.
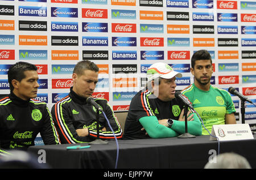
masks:
<svg viewBox="0 0 256 180"><path fill-rule="evenodd" d="M76 64L73 73L76 73L77 75L82 75L84 73L84 70L98 72L98 66L94 62L83 60Z"/></svg>

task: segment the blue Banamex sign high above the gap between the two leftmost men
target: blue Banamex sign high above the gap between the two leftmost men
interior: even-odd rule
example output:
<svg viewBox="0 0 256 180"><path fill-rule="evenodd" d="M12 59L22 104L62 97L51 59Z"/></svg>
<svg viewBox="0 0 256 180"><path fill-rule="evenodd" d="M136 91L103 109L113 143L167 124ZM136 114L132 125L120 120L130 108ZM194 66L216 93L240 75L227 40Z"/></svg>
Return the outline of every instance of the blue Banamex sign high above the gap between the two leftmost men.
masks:
<svg viewBox="0 0 256 180"><path fill-rule="evenodd" d="M77 22L51 22L52 31L78 32Z"/></svg>

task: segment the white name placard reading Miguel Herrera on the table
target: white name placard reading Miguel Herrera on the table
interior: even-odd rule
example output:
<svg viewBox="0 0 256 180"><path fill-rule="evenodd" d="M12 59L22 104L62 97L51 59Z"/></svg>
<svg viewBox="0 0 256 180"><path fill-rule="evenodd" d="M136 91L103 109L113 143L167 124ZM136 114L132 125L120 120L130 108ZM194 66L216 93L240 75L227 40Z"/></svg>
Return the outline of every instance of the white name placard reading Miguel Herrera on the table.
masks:
<svg viewBox="0 0 256 180"><path fill-rule="evenodd" d="M212 135L220 141L254 139L249 124L213 125ZM210 136L210 140L217 140Z"/></svg>

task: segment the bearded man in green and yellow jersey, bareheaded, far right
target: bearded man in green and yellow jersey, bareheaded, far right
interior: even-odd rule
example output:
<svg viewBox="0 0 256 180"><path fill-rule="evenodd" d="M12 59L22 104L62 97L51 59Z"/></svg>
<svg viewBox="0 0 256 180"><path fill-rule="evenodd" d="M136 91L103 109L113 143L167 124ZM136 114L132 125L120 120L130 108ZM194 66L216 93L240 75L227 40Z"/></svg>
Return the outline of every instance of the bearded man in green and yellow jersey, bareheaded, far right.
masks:
<svg viewBox="0 0 256 180"><path fill-rule="evenodd" d="M205 128L212 132L213 125L236 124L234 103L224 89L210 84L213 73L212 58L207 50L199 50L192 55L191 73L194 83L181 93L192 102L193 108L199 113ZM209 135L203 127L203 135Z"/></svg>

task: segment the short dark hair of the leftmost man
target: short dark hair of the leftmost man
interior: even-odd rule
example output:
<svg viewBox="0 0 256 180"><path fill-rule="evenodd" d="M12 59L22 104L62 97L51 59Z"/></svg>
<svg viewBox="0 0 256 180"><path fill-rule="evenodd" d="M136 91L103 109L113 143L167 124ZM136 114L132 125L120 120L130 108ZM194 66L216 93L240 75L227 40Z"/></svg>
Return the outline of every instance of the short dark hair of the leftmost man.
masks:
<svg viewBox="0 0 256 180"><path fill-rule="evenodd" d="M28 62L17 62L14 65L11 65L8 71L8 82L10 84L10 90L13 91L14 87L13 84L11 84L11 81L13 79L18 80L18 82L21 82L22 79L26 78L24 75L24 71L37 71L38 67L35 65L32 65Z"/></svg>

